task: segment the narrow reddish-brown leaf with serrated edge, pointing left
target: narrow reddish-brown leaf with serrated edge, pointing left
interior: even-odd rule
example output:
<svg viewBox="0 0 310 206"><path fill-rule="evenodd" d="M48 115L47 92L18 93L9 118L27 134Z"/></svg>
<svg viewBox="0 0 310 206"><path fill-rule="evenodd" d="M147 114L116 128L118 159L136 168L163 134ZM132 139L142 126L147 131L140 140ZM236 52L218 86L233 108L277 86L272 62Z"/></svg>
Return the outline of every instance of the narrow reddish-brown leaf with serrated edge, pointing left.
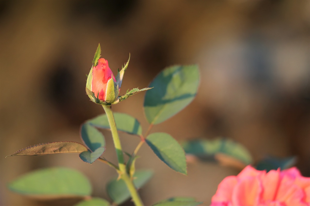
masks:
<svg viewBox="0 0 310 206"><path fill-rule="evenodd" d="M14 154L16 155L44 155L44 154L58 154L58 153L80 153L87 151L87 148L78 142L53 142L41 145L30 146L21 149Z"/></svg>

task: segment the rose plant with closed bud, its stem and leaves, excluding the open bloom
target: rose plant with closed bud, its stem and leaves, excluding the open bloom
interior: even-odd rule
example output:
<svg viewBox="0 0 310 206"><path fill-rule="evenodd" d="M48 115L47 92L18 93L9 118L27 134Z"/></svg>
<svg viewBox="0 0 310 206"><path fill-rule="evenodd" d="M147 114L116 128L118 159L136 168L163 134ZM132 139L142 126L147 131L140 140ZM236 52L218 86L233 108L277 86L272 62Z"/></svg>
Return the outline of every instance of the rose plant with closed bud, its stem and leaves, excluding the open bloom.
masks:
<svg viewBox="0 0 310 206"><path fill-rule="evenodd" d="M135 162L140 147L146 143L151 150L171 169L187 174L185 153L179 143L164 132L151 133L154 125L164 122L193 101L199 84L199 71L196 65L172 66L164 69L151 82L148 88L134 88L119 96L127 63L114 76L108 60L100 58L100 45L92 61L87 76L86 94L96 104L103 107L105 114L87 120L81 126L81 138L78 142L53 142L31 146L9 156L44 155L55 153L79 153L82 161L92 164L96 160L111 166L118 174L107 184L108 195L113 204L122 204L130 197L135 205L143 205L138 189L152 176L150 170L136 170ZM146 91L144 113L149 122L148 130L143 134L137 119L124 113L113 113L112 105L128 97ZM117 163L104 157L105 140L98 128L109 129L117 155ZM118 131L140 138L132 152L122 149ZM12 191L24 195L44 198L82 197L78 205L109 205L107 200L91 197L89 180L81 173L70 168L47 168L31 172L9 184ZM170 198L155 205L198 205L193 198Z"/></svg>

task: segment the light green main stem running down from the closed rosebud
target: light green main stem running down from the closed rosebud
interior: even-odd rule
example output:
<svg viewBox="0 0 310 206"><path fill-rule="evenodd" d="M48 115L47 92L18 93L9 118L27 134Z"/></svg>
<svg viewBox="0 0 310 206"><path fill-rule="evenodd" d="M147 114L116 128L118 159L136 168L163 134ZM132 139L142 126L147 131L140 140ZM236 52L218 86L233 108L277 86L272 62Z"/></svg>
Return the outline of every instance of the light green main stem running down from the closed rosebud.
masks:
<svg viewBox="0 0 310 206"><path fill-rule="evenodd" d="M105 111L105 114L107 114L107 117L108 117L108 122L109 122L111 133L112 133L114 147L116 150L118 167L120 170L120 176L124 180L124 182L126 183L126 186L127 186L128 190L131 194L132 200L135 203L135 205L136 206L142 206L143 203L142 203L141 198L140 198L140 196L139 196L139 194L135 188L135 185L133 184L133 182L131 181L130 177L128 176L128 174L126 172L126 165L125 165L125 161L124 161L122 145L121 145L121 141L119 140L119 136L118 136L118 132L117 132L116 124L115 124L115 119L113 116L111 106L110 105L102 105L102 107Z"/></svg>

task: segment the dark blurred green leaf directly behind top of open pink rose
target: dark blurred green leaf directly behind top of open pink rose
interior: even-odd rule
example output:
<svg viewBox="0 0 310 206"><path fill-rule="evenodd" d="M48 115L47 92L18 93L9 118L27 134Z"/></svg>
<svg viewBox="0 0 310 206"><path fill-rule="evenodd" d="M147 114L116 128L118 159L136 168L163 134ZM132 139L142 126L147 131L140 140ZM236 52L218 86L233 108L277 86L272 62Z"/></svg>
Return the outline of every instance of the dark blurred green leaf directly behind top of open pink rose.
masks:
<svg viewBox="0 0 310 206"><path fill-rule="evenodd" d="M286 157L286 158L277 158L277 157L265 157L261 161L259 161L256 165L257 170L277 170L280 168L281 170L288 169L296 164L296 157Z"/></svg>

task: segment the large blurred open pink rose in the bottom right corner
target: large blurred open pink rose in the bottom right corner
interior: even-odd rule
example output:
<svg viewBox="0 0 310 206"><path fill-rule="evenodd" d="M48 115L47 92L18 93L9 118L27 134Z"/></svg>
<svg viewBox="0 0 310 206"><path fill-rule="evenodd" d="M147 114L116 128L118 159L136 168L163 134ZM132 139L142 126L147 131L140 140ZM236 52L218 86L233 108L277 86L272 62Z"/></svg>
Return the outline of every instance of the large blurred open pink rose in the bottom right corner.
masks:
<svg viewBox="0 0 310 206"><path fill-rule="evenodd" d="M211 206L309 206L310 178L296 167L280 171L255 170L246 166L237 176L219 183Z"/></svg>

